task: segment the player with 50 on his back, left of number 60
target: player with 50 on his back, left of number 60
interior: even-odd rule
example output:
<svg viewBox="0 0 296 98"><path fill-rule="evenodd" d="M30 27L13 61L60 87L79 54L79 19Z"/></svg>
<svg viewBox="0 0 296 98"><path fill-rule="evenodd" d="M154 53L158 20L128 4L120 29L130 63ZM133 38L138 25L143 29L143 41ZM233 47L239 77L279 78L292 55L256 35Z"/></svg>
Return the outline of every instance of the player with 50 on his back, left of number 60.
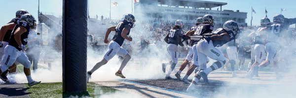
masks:
<svg viewBox="0 0 296 98"><path fill-rule="evenodd" d="M174 27L169 31L169 33L163 39L168 44L167 51L171 56L171 62L170 62L171 66L170 66L169 72L165 76L166 79L171 79L170 74L175 69L175 66L178 63L178 56L179 56L178 45L182 47L184 46L184 44L181 41L181 37L179 36L180 34L182 34L183 25L184 24L181 20L177 20L175 22ZM166 64L162 64L162 69L164 69L164 71L165 71L165 67L166 67Z"/></svg>

